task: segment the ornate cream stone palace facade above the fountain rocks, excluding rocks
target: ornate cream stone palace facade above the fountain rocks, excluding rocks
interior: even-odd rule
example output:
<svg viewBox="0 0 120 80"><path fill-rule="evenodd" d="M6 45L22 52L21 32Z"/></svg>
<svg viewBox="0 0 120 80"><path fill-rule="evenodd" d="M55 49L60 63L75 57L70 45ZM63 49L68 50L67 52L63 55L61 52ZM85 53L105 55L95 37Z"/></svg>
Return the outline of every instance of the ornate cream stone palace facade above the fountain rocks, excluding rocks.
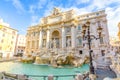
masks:
<svg viewBox="0 0 120 80"><path fill-rule="evenodd" d="M49 16L41 18L37 25L27 30L26 53L88 53L88 45L83 41L82 25L90 21L90 32L98 36L98 24L103 28L102 38L91 43L93 52L107 50L109 35L105 11L76 15L75 11L62 12L54 8Z"/></svg>

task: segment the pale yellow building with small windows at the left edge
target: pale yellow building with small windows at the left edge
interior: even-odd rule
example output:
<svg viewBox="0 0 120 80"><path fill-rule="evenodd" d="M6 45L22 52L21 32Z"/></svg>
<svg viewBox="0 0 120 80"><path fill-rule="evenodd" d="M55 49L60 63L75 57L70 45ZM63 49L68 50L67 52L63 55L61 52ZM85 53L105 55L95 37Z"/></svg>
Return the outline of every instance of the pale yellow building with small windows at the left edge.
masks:
<svg viewBox="0 0 120 80"><path fill-rule="evenodd" d="M13 57L18 30L0 19L0 56Z"/></svg>

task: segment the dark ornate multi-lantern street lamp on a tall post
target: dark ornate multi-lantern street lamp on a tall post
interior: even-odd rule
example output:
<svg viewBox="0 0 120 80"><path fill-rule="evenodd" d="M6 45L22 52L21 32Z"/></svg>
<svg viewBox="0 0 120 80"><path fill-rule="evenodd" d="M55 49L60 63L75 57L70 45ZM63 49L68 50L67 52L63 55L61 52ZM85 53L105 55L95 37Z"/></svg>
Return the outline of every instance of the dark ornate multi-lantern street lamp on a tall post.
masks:
<svg viewBox="0 0 120 80"><path fill-rule="evenodd" d="M98 24L98 28L97 28L97 32L99 37L97 38L94 35L90 34L90 22L87 21L83 26L82 26L82 35L83 35L83 40L88 41L88 48L89 48L89 57L90 57L90 74L95 74L94 73L94 67L93 67L93 63L92 63L92 50L91 50L91 40L93 39L100 39L101 38L101 32L102 32L103 28L101 28L100 24Z"/></svg>

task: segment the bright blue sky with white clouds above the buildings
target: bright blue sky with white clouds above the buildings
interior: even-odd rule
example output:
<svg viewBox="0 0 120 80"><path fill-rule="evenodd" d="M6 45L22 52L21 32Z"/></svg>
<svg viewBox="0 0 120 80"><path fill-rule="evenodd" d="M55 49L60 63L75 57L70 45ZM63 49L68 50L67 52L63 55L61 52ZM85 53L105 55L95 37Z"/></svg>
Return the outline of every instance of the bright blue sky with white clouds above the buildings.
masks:
<svg viewBox="0 0 120 80"><path fill-rule="evenodd" d="M26 34L27 27L39 23L53 7L62 11L75 9L78 14L105 9L110 36L117 35L120 0L0 0L0 18L19 30L19 34Z"/></svg>

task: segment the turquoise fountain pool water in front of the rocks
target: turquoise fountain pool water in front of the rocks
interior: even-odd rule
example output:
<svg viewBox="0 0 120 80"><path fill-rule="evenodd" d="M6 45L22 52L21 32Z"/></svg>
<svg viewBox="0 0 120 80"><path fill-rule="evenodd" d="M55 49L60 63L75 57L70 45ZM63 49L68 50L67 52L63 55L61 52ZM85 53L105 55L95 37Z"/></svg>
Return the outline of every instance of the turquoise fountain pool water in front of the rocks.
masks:
<svg viewBox="0 0 120 80"><path fill-rule="evenodd" d="M0 71L14 74L26 75L76 75L77 73L85 73L89 71L89 65L85 64L82 67L64 67L53 68L47 65L25 64L18 62L2 62L0 63ZM32 77L33 80L43 80L43 78ZM46 79L47 80L47 79ZM60 77L58 80L73 80L73 77Z"/></svg>

